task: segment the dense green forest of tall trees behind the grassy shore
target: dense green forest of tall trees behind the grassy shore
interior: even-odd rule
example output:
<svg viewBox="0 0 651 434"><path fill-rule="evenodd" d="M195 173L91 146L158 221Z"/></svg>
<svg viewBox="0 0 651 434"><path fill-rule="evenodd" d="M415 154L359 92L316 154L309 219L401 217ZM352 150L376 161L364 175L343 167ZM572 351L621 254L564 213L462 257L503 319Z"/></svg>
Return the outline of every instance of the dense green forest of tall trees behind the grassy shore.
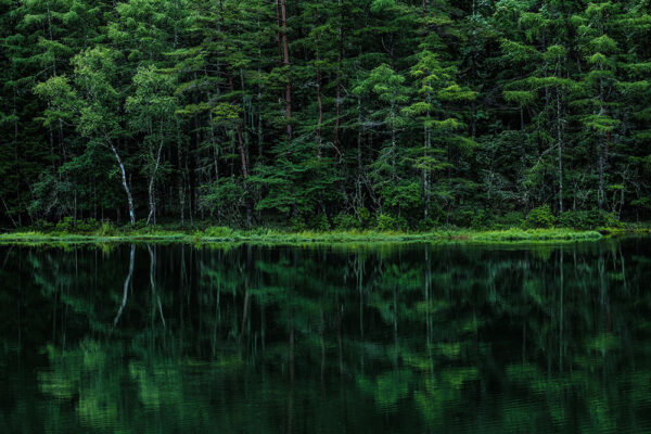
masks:
<svg viewBox="0 0 651 434"><path fill-rule="evenodd" d="M0 0L1 226L648 219L650 12Z"/></svg>

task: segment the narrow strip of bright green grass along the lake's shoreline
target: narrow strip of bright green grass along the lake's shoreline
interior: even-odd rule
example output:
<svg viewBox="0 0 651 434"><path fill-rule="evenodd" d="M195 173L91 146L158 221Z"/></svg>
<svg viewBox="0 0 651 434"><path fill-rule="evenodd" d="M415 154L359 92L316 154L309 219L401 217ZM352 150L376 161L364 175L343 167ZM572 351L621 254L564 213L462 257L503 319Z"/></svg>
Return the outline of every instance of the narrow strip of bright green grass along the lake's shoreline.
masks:
<svg viewBox="0 0 651 434"><path fill-rule="evenodd" d="M507 229L496 231L434 230L432 232L379 232L379 231L337 231L337 232L283 232L272 229L231 230L228 228L208 228L204 231L169 231L158 229L139 229L116 231L111 235L103 233L68 232L11 232L0 234L0 244L48 244L48 243L119 243L119 242L162 242L195 244L311 244L311 243L399 243L399 242L449 242L449 243L541 243L600 240L598 231L575 231L570 229Z"/></svg>

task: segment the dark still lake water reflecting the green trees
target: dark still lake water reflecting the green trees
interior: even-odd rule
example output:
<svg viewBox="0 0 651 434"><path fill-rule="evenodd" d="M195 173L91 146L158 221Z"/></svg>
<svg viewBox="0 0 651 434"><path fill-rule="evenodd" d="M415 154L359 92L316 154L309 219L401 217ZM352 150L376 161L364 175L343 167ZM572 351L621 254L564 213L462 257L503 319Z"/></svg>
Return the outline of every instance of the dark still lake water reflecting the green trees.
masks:
<svg viewBox="0 0 651 434"><path fill-rule="evenodd" d="M648 239L0 265L1 433L651 432Z"/></svg>

